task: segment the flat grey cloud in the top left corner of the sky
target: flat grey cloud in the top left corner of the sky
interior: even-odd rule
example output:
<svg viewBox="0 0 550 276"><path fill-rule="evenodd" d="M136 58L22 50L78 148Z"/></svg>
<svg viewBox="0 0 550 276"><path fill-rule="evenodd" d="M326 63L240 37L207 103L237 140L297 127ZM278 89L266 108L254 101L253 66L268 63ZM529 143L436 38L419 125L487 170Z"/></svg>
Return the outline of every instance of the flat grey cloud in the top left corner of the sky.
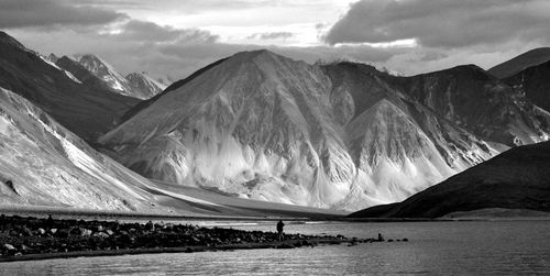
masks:
<svg viewBox="0 0 550 276"><path fill-rule="evenodd" d="M0 27L90 26L107 24L125 14L90 5L55 0L0 1Z"/></svg>

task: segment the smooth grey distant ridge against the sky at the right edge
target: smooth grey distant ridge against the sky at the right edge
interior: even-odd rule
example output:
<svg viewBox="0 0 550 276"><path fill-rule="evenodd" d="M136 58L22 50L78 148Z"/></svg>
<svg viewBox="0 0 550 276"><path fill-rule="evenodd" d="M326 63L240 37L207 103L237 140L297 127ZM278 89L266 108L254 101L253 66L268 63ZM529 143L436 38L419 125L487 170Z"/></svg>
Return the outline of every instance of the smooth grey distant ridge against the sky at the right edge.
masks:
<svg viewBox="0 0 550 276"><path fill-rule="evenodd" d="M499 79L512 77L521 70L550 62L550 47L535 48L505 63L488 69L488 73Z"/></svg>

